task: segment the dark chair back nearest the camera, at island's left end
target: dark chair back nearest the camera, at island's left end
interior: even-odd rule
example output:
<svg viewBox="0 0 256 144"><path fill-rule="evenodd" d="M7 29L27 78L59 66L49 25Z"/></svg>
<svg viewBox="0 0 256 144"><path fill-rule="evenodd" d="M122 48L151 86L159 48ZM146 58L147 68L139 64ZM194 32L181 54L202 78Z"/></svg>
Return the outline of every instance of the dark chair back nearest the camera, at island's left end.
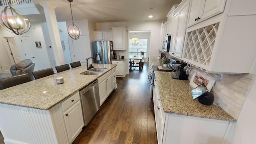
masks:
<svg viewBox="0 0 256 144"><path fill-rule="evenodd" d="M16 85L23 84L25 82L30 82L30 81L31 79L28 73L11 76L8 78L2 78L0 79L0 89L3 90L5 88L10 88L12 86L16 86Z"/></svg>

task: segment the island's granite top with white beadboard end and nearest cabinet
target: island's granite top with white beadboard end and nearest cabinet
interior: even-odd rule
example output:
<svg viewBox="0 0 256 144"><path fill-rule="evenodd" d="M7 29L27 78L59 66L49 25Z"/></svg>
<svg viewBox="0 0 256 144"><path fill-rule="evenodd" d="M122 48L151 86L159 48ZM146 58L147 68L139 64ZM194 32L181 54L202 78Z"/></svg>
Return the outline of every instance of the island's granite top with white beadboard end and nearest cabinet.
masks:
<svg viewBox="0 0 256 144"><path fill-rule="evenodd" d="M4 142L72 143L83 127L78 91L111 72L116 64L93 66L106 70L97 75L82 75L82 72L87 71L86 66L79 66L0 90L0 130ZM57 84L57 77L63 77L64 83Z"/></svg>

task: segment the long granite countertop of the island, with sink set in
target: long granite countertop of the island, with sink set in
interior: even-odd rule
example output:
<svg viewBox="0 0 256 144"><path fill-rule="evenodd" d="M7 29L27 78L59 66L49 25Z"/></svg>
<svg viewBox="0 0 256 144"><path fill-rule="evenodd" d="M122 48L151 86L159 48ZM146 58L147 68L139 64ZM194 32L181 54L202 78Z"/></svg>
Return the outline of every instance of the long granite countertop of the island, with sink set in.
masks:
<svg viewBox="0 0 256 144"><path fill-rule="evenodd" d="M92 64L94 68L107 68L97 75L82 75L86 66L79 66L44 78L0 90L0 103L49 110L69 96L78 92L116 66L116 64ZM64 83L57 84L56 78Z"/></svg>

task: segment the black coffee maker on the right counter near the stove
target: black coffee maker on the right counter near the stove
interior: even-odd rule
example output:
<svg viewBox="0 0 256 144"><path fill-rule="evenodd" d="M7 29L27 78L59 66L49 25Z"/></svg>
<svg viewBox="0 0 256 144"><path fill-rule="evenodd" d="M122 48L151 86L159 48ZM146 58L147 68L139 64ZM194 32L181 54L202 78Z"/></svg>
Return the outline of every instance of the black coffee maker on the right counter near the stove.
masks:
<svg viewBox="0 0 256 144"><path fill-rule="evenodd" d="M173 64L173 68L176 71L176 75L172 76L172 78L178 80L188 80L188 75L183 70L185 66L186 64Z"/></svg>

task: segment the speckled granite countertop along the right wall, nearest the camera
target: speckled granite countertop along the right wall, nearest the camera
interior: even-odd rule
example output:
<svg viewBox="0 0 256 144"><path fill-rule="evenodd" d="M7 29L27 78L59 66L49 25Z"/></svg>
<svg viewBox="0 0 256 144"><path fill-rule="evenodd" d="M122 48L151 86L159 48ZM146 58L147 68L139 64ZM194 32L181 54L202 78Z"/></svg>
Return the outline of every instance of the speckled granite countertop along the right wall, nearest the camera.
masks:
<svg viewBox="0 0 256 144"><path fill-rule="evenodd" d="M155 71L156 81L164 112L216 120L236 121L222 108L215 105L206 106L193 100L188 80L175 80L174 72Z"/></svg>

